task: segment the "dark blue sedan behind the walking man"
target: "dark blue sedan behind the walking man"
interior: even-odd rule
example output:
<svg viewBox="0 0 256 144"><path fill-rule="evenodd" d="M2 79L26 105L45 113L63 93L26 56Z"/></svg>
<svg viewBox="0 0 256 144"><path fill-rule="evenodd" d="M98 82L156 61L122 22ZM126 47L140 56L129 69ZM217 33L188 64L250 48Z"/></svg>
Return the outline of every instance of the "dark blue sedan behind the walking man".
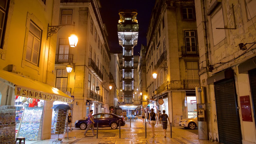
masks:
<svg viewBox="0 0 256 144"><path fill-rule="evenodd" d="M94 127L97 127L97 123L99 123L99 127L110 127L111 129L117 129L119 126L119 122L121 122L121 126L125 125L125 121L123 117L112 113L98 113L93 116L93 121L95 122ZM87 120L80 119L75 122L75 128L80 128L82 130L87 128Z"/></svg>

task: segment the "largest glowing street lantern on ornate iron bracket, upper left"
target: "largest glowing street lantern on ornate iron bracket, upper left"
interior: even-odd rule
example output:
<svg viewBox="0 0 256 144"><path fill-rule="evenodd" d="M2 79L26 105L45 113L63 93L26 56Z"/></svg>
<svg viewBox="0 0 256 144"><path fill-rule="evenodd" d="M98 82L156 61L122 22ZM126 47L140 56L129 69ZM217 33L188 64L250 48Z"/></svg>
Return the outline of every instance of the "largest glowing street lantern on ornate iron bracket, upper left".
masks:
<svg viewBox="0 0 256 144"><path fill-rule="evenodd" d="M77 46L77 42L78 42L78 37L74 34L75 31L75 22L73 22L72 25L57 25L57 26L50 26L48 24L48 32L47 32L47 40L48 37L51 37L53 34L56 34L58 32L58 30L60 28L62 28L63 26L74 26L72 33L70 34L70 36L68 37L69 39L69 45L70 47L76 47Z"/></svg>

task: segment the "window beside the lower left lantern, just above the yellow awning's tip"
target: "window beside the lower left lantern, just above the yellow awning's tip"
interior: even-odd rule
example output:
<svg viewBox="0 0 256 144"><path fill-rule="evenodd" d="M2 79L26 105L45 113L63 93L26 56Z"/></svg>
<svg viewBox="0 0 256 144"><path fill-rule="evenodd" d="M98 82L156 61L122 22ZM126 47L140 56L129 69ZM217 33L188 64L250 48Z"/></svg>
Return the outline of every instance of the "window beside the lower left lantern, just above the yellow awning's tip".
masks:
<svg viewBox="0 0 256 144"><path fill-rule="evenodd" d="M68 72L66 69L57 69L56 88L62 92L67 91Z"/></svg>

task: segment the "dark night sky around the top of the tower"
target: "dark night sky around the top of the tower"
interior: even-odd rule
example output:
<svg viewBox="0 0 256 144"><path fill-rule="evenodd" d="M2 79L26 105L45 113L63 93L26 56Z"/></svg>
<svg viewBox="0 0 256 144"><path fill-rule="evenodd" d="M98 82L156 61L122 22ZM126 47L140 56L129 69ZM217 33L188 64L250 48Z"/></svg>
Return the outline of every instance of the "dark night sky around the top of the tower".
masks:
<svg viewBox="0 0 256 144"><path fill-rule="evenodd" d="M108 32L109 48L111 53L122 53L122 47L118 43L117 25L120 9L137 9L139 24L138 43L134 47L133 55L139 55L141 44L147 45L146 33L155 0L100 0L101 18Z"/></svg>

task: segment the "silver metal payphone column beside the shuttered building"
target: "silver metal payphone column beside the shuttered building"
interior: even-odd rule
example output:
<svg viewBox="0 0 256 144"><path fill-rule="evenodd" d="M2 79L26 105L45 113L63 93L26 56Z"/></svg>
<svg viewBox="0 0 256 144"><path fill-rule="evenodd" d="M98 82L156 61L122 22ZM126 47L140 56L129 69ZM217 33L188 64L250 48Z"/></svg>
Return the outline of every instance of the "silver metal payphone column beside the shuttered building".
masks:
<svg viewBox="0 0 256 144"><path fill-rule="evenodd" d="M205 87L196 87L198 139L208 140L206 112L205 112Z"/></svg>

